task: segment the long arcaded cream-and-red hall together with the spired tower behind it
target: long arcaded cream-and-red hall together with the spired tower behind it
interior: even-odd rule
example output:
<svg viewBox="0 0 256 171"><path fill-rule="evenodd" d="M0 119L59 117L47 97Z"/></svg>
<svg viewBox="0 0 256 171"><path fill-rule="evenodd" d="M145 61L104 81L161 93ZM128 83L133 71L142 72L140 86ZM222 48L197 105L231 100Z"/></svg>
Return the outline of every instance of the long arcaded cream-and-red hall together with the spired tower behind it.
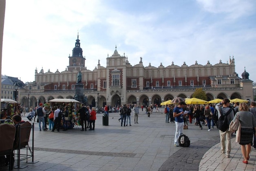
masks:
<svg viewBox="0 0 256 171"><path fill-rule="evenodd" d="M35 107L56 98L74 98L77 74L82 73L84 96L88 105L116 106L127 103L138 105L158 104L176 96L191 97L196 88L203 88L207 99L253 99L252 82L249 73L242 78L235 71L235 59L229 57L228 63L195 64L185 62L177 66L172 61L169 66L143 66L142 57L132 66L128 59L117 52L106 57L106 67L98 61L94 70L87 70L85 57L77 35L72 56L67 57L69 65L60 72L44 72L35 69L35 81L26 85L20 92L19 102ZM29 97L29 98L28 98Z"/></svg>

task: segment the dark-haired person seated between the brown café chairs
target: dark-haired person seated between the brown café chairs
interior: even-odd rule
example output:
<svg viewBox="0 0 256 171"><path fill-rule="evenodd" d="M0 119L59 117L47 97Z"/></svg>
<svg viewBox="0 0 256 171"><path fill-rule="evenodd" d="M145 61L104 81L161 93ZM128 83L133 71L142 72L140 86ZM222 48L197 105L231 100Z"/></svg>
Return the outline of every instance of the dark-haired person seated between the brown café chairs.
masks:
<svg viewBox="0 0 256 171"><path fill-rule="evenodd" d="M15 145L17 143L17 134L18 134L18 127L20 124L25 123L25 121L21 120L21 116L19 114L15 114L13 116L13 125L16 127L16 131L15 131L15 138L14 138L14 142L13 145ZM11 164L11 170L13 169L13 165L14 165L14 154L13 151L11 152L11 163L10 162L10 155L6 156L6 161L5 161L5 165L7 166L8 164Z"/></svg>

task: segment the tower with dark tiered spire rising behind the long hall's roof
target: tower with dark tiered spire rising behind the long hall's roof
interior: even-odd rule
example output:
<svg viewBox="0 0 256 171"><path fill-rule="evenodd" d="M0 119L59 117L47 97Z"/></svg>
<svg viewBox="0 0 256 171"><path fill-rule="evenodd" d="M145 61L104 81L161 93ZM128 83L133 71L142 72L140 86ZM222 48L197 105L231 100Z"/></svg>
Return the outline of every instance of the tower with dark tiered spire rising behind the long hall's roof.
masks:
<svg viewBox="0 0 256 171"><path fill-rule="evenodd" d="M79 35L77 33L77 39L75 42L75 47L73 48L72 56L69 55L69 66L67 66L68 71L73 71L75 68L77 70L85 69L85 57L83 57L83 50L80 48Z"/></svg>

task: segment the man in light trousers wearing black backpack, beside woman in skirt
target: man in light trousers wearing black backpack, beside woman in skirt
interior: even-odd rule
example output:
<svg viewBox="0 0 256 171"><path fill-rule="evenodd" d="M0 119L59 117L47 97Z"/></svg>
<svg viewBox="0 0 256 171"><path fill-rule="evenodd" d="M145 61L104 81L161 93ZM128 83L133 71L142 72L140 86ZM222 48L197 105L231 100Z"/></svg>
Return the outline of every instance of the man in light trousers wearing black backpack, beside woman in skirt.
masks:
<svg viewBox="0 0 256 171"><path fill-rule="evenodd" d="M221 106L222 105L222 106ZM230 122L234 119L234 111L229 107L230 100L223 99L221 103L216 104L218 111L218 129L221 139L221 153L225 153L226 157L230 157L231 151L231 131L229 131ZM225 143L226 138L226 143Z"/></svg>

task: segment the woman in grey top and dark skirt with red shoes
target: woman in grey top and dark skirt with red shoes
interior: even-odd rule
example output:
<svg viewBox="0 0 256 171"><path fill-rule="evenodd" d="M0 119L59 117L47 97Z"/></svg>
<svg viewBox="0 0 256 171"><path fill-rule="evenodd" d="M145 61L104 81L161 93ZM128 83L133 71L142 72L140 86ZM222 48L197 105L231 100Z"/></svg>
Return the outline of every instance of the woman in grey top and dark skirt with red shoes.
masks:
<svg viewBox="0 0 256 171"><path fill-rule="evenodd" d="M241 103L239 105L239 111L237 112L233 122L236 120L236 116L239 117L239 121L241 123L241 136L240 142L241 151L243 154L243 163L248 164L248 160L250 158L249 153L251 152L251 143L253 138L253 127L256 129L256 121L254 115L248 111L249 107L246 103ZM254 137L256 134L254 134Z"/></svg>

